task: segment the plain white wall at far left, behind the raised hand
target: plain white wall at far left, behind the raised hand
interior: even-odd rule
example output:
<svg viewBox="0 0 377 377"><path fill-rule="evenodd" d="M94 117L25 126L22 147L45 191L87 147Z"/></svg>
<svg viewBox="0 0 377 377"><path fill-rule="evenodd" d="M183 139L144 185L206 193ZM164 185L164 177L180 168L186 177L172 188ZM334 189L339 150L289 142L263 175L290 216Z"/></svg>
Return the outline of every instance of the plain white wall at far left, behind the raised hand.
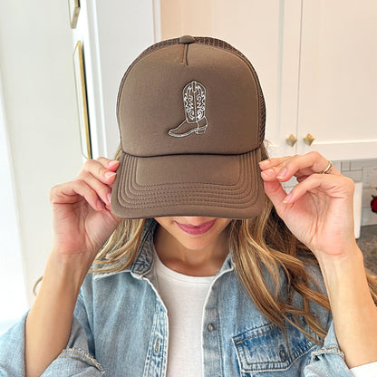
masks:
<svg viewBox="0 0 377 377"><path fill-rule="evenodd" d="M0 0L0 9L5 127L31 304L52 243L49 190L82 166L72 31L67 1Z"/></svg>

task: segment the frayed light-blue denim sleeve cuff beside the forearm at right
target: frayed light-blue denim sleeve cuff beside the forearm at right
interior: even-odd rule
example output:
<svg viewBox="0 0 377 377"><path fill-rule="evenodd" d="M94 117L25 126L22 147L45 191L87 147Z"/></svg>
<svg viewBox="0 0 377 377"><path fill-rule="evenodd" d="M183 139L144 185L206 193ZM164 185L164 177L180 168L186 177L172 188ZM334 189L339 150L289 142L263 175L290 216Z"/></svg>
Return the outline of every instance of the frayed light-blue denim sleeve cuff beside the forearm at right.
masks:
<svg viewBox="0 0 377 377"><path fill-rule="evenodd" d="M353 377L344 362L344 353L339 349L336 340L333 320L324 345L311 353L311 360L304 368L304 377Z"/></svg>

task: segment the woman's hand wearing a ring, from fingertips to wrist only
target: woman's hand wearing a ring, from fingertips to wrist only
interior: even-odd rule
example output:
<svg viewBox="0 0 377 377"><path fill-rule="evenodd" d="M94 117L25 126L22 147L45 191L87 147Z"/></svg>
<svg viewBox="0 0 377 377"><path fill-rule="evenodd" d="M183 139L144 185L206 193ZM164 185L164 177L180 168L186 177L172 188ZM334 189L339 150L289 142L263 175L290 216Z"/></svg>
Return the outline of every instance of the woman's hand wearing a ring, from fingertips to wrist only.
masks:
<svg viewBox="0 0 377 377"><path fill-rule="evenodd" d="M346 256L356 246L353 230L352 179L329 165L318 152L260 162L266 195L277 214L318 258ZM298 184L286 195L281 182Z"/></svg>

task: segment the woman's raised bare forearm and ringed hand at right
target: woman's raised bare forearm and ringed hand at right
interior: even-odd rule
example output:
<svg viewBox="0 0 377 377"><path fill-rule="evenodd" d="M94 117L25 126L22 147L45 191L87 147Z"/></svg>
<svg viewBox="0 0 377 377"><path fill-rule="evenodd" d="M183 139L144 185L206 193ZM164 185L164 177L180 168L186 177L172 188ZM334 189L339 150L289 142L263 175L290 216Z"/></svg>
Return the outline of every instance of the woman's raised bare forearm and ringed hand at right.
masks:
<svg viewBox="0 0 377 377"><path fill-rule="evenodd" d="M260 162L266 194L291 232L316 256L336 339L349 368L377 360L377 310L353 232L353 181L317 152ZM281 186L299 182L287 196Z"/></svg>

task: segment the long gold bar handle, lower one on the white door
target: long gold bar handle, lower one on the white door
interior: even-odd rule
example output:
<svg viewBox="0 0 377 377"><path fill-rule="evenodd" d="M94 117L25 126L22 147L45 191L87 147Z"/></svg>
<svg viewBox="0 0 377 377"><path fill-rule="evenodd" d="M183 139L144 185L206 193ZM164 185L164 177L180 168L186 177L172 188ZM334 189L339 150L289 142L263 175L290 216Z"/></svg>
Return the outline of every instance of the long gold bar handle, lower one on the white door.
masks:
<svg viewBox="0 0 377 377"><path fill-rule="evenodd" d="M91 133L89 128L88 104L86 100L86 82L82 54L82 42L78 41L73 51L74 81L76 86L77 112L79 116L82 155L92 159Z"/></svg>

